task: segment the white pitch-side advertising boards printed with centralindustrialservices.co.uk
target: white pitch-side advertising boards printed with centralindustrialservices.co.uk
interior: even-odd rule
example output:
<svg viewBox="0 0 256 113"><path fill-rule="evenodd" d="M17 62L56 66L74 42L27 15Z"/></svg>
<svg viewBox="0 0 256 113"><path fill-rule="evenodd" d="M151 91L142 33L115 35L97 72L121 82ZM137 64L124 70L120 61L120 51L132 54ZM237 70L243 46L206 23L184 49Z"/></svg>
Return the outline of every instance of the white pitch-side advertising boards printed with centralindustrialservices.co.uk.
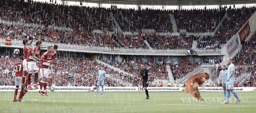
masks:
<svg viewBox="0 0 256 113"><path fill-rule="evenodd" d="M15 91L15 86L0 86L0 92L2 91ZM55 92L88 92L92 91L94 87L66 87L56 86ZM148 87L148 91L182 91L183 87ZM198 87L199 91L223 91L222 87ZM235 91L256 91L256 87L235 87ZM29 92L38 91L33 87L33 90ZM96 90L94 90L96 91ZM101 91L101 88L100 88ZM120 91L120 92L131 92L131 91L143 91L141 87L104 87L104 91Z"/></svg>

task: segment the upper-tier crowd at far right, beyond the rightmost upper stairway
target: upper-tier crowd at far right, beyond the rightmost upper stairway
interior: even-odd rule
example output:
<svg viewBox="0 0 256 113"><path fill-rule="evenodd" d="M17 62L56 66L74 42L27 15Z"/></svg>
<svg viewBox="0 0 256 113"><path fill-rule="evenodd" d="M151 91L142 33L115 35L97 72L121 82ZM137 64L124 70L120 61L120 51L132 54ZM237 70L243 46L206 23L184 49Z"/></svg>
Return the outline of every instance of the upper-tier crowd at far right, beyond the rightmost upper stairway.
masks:
<svg viewBox="0 0 256 113"><path fill-rule="evenodd" d="M222 48L227 41L237 33L245 22L256 11L256 7L242 7L227 9L227 15L220 28L213 36L200 36L197 39L197 48Z"/></svg>

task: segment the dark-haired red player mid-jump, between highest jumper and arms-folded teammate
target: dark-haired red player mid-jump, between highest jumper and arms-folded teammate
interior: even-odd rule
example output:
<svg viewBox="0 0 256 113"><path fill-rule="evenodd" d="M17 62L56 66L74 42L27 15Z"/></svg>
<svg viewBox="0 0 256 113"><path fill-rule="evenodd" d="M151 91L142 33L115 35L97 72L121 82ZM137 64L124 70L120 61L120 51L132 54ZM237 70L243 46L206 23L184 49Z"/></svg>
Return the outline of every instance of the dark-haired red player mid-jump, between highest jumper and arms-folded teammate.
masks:
<svg viewBox="0 0 256 113"><path fill-rule="evenodd" d="M29 89L31 89L31 86L30 86L31 76L32 76L32 71L34 71L34 73L35 73L34 87L38 89L37 84L36 84L37 79L38 79L38 67L37 67L36 62L41 60L41 59L39 59L41 46L42 46L42 42L38 41L36 43L36 46L33 48L30 48L30 50L29 50L29 56L27 59L28 75L27 75L27 80L25 82L25 86L24 86L25 88L27 88L27 85L29 85ZM27 91L27 89L25 89L25 88L24 88L24 90Z"/></svg>

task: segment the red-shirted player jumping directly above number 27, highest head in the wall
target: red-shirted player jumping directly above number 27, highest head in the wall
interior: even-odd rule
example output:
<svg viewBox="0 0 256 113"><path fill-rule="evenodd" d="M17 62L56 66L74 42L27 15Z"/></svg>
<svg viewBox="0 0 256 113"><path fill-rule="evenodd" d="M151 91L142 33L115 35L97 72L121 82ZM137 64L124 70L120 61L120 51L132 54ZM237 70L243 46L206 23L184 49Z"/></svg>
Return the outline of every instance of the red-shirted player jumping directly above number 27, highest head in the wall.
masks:
<svg viewBox="0 0 256 113"><path fill-rule="evenodd" d="M24 55L24 60L22 62L22 65L23 65L23 76L22 76L22 84L23 84L23 88L25 88L25 93L27 91L27 87L24 87L25 85L25 80L26 80L26 77L27 77L27 59L28 59L28 55L29 55L29 41L27 39L24 39L23 40L23 55Z"/></svg>

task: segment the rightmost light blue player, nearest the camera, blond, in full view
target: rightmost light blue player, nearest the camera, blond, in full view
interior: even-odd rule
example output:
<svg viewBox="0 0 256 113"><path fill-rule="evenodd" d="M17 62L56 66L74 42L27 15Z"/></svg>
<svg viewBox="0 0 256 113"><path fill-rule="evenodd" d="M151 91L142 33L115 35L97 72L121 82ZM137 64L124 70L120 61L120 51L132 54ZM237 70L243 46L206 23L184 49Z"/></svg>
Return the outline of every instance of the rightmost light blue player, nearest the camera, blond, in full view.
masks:
<svg viewBox="0 0 256 113"><path fill-rule="evenodd" d="M237 95L237 93L234 91L234 83L235 83L235 65L232 63L232 58L227 59L228 68L227 68L227 94L226 98L229 98L231 96L230 92L232 92L237 98L237 104L241 101ZM226 102L223 102L224 104L229 104L229 99L226 99Z"/></svg>

